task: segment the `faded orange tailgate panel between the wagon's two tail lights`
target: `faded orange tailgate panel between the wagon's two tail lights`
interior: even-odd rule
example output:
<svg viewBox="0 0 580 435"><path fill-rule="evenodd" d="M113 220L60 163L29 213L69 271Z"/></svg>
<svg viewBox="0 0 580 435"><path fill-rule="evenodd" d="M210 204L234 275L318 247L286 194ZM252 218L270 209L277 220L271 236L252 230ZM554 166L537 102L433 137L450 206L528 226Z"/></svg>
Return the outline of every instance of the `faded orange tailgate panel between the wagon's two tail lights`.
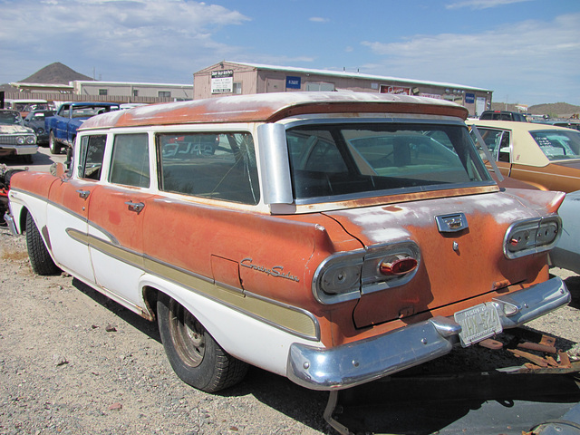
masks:
<svg viewBox="0 0 580 435"><path fill-rule="evenodd" d="M527 267L541 267L538 262L546 264L546 257L508 259L503 252L507 228L519 219L546 214L556 193L529 190L526 195L496 192L325 213L365 247L411 240L420 249L411 281L361 296L353 313L357 327L404 319L526 282ZM540 199L532 204L530 198ZM438 218L461 213L465 229L440 231Z"/></svg>

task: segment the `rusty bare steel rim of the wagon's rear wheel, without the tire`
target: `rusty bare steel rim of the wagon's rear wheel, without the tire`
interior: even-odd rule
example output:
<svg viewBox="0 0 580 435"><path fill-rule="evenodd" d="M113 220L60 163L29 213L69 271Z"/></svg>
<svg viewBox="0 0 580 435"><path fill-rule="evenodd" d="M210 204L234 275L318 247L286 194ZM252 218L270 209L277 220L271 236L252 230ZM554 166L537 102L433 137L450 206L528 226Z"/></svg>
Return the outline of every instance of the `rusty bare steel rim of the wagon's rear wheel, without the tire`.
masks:
<svg viewBox="0 0 580 435"><path fill-rule="evenodd" d="M173 299L169 303L169 332L181 361L190 367L198 367L206 352L206 330Z"/></svg>

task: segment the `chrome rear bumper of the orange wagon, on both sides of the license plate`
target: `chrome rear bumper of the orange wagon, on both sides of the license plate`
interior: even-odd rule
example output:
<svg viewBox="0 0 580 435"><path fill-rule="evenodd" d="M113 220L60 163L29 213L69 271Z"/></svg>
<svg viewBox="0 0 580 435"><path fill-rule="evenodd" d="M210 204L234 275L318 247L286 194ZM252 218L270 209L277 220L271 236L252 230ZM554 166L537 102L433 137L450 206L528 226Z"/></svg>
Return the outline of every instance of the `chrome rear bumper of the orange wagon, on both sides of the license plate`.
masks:
<svg viewBox="0 0 580 435"><path fill-rule="evenodd" d="M492 302L503 329L517 327L570 302L559 277ZM459 343L461 326L452 317L433 317L419 324L330 349L294 343L287 377L311 390L341 390L371 382L434 360Z"/></svg>

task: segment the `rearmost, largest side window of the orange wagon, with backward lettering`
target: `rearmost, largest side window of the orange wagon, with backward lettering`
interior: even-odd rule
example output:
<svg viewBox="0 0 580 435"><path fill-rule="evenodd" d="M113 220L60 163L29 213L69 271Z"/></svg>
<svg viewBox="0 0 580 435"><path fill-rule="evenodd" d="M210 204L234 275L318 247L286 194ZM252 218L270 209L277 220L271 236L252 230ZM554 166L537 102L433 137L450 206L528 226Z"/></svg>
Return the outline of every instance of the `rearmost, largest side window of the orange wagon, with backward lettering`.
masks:
<svg viewBox="0 0 580 435"><path fill-rule="evenodd" d="M160 133L160 189L256 205L254 140L247 132Z"/></svg>

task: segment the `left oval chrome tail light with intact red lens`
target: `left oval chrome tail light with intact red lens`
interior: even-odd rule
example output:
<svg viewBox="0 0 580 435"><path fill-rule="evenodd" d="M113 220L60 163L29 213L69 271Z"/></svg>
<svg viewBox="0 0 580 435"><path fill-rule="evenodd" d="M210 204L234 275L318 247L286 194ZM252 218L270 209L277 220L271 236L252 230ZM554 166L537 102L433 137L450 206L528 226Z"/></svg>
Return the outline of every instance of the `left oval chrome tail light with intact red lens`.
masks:
<svg viewBox="0 0 580 435"><path fill-rule="evenodd" d="M412 241L338 253L316 269L313 294L322 304L358 299L408 283L419 264L420 250Z"/></svg>

